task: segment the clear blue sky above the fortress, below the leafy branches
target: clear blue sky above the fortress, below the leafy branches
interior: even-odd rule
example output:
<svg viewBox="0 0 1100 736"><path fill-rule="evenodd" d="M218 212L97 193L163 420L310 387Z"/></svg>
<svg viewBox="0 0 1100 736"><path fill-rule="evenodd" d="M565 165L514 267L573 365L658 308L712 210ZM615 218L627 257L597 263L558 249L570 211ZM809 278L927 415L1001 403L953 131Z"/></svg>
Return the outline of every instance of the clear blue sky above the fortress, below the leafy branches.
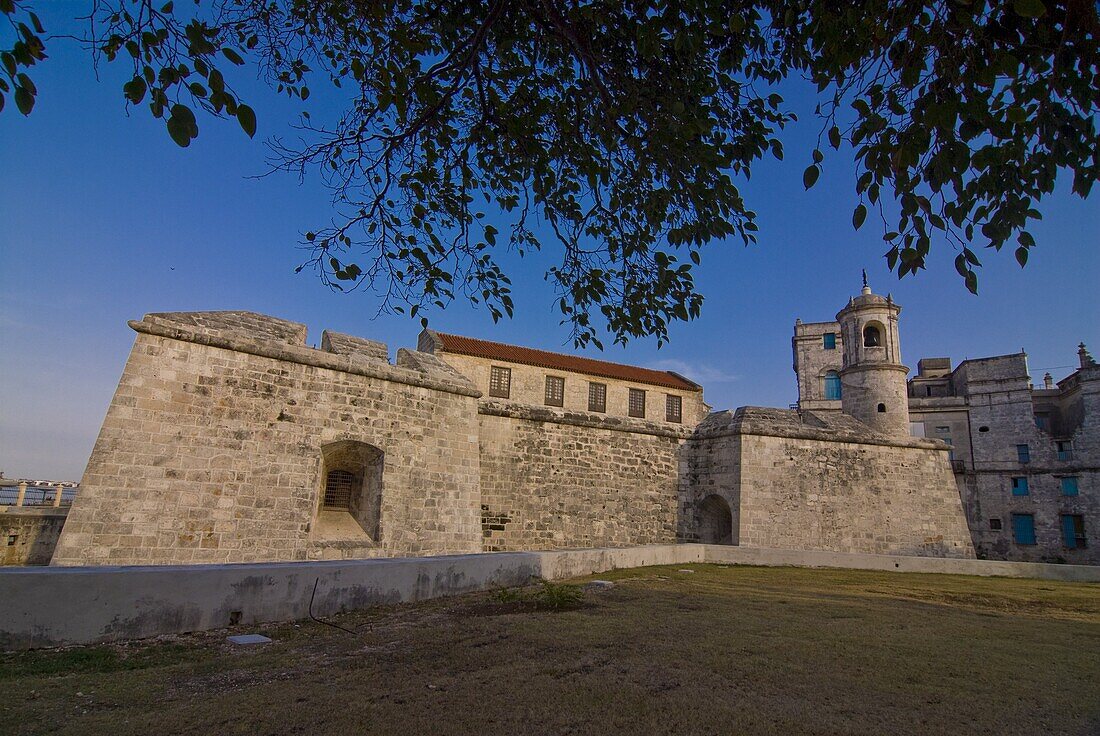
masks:
<svg viewBox="0 0 1100 736"><path fill-rule="evenodd" d="M78 32L85 3L40 3L54 32ZM328 195L316 178L251 178L264 173L263 139L292 134L296 107L248 78L237 84L256 109L250 141L235 121L199 119L179 149L144 111L128 117L122 68L54 42L34 70L30 118L0 113L0 470L11 476L78 479L118 384L134 333L127 320L151 311L249 309L382 340L391 355L415 347L419 321L376 317L365 294L337 294L308 272L299 233L326 221ZM251 74L251 73L245 73ZM315 87L319 84L315 85ZM315 90L316 92L317 90ZM785 163L766 161L741 187L760 215L760 243L715 243L703 252L702 318L653 340L608 347L594 358L683 373L715 408L783 406L796 388L791 359L795 318L828 320L857 294L860 270L902 308L902 352L955 362L1028 353L1032 378L1071 372L1077 343L1100 355L1100 194L1081 201L1069 177L1043 204L1038 241L1021 270L1011 252L983 253L980 294L955 274L942 246L931 270L902 281L887 271L870 218L851 229L856 205L850 152L826 158L803 190L818 127L811 90L789 85L800 122L785 135ZM316 95L315 119L324 113ZM310 100L315 102L315 100ZM502 229L503 230L503 229ZM484 309L455 303L431 326L504 342L571 352L552 309L542 259L506 261L516 317L494 325Z"/></svg>

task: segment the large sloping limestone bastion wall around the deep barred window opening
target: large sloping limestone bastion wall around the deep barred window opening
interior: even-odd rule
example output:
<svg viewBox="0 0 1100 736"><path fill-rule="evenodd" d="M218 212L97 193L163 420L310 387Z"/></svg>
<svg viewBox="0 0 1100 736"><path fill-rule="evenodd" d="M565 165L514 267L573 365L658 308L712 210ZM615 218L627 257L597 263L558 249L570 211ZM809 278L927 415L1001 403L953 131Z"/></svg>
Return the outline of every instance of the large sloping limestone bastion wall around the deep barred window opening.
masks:
<svg viewBox="0 0 1100 736"><path fill-rule="evenodd" d="M477 395L431 355L250 312L148 315L55 564L418 556L481 549ZM383 453L377 538L319 523L322 449ZM326 512L332 514L332 512ZM352 529L349 532L345 529Z"/></svg>

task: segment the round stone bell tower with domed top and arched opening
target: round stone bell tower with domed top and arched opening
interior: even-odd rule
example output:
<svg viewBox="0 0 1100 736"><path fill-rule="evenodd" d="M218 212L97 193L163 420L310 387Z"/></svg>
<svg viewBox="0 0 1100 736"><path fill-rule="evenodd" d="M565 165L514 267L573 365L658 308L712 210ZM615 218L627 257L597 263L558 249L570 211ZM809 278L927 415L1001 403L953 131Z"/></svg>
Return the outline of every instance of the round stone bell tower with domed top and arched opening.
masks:
<svg viewBox="0 0 1100 736"><path fill-rule="evenodd" d="M860 295L836 316L844 342L840 408L891 437L909 436L909 369L901 363L900 312L889 296L871 294L865 274Z"/></svg>

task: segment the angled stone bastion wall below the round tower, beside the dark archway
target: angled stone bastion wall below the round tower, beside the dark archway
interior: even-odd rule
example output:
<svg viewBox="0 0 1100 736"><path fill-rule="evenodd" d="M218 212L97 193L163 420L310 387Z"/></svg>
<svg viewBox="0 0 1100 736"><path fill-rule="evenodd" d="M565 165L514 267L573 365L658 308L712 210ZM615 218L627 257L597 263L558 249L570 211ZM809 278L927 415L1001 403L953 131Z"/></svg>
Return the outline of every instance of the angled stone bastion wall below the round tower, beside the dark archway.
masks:
<svg viewBox="0 0 1100 736"><path fill-rule="evenodd" d="M939 442L875 436L835 413L746 407L713 415L684 457L685 540L703 521L688 512L717 494L741 546L974 557Z"/></svg>

